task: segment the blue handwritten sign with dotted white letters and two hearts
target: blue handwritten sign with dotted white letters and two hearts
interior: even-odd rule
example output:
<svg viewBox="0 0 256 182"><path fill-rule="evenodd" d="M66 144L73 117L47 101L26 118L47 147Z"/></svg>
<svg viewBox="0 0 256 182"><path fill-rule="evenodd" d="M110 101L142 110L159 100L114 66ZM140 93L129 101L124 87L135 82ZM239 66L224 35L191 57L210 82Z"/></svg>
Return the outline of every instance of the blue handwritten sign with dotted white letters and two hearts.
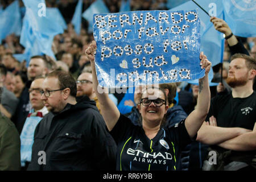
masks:
<svg viewBox="0 0 256 182"><path fill-rule="evenodd" d="M93 35L101 86L130 87L204 76L196 10L94 14Z"/></svg>

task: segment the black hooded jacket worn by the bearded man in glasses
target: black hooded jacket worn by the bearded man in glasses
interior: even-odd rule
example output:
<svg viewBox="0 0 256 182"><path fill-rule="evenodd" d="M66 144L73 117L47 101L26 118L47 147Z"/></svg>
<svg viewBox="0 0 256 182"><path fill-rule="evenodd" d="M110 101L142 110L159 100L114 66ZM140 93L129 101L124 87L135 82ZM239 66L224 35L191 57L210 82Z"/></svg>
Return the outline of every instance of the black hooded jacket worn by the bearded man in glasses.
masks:
<svg viewBox="0 0 256 182"><path fill-rule="evenodd" d="M46 152L46 164L38 154ZM116 145L94 101L82 98L36 126L28 170L114 170Z"/></svg>

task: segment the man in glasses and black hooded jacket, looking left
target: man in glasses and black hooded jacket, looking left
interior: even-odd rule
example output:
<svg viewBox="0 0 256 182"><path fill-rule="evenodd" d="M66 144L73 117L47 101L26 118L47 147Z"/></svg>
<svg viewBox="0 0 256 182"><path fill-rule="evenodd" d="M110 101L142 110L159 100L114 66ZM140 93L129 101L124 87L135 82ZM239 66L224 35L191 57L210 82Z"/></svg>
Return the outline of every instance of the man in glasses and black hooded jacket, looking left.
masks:
<svg viewBox="0 0 256 182"><path fill-rule="evenodd" d="M114 170L114 140L95 102L87 96L76 101L72 75L65 71L49 73L40 93L49 114L36 126L28 170ZM40 164L39 151L46 154Z"/></svg>

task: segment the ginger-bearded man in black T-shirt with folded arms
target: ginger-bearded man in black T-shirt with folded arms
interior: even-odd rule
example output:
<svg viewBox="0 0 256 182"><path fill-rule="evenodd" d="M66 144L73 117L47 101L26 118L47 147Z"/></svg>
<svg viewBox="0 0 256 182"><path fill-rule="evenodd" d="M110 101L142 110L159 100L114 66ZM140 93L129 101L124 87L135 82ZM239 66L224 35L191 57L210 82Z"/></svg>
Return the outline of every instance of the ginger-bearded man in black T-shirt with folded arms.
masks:
<svg viewBox="0 0 256 182"><path fill-rule="evenodd" d="M237 53L231 57L226 82L232 93L212 99L205 123L197 134L197 140L209 144L217 160L204 170L254 170L256 169L256 93L253 83L256 61L253 57Z"/></svg>

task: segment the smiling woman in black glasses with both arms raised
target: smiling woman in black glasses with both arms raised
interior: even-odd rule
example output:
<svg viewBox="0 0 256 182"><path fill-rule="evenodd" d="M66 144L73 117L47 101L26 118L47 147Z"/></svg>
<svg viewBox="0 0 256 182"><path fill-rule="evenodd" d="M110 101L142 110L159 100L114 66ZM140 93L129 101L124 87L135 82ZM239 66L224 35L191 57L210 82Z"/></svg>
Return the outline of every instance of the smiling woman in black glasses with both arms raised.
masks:
<svg viewBox="0 0 256 182"><path fill-rule="evenodd" d="M180 152L197 136L210 107L210 89L208 73L211 63L200 54L201 68L205 76L199 79L197 108L184 121L170 129L162 127L167 113L167 96L164 90L156 87L147 88L138 105L142 116L142 126L135 126L130 119L119 113L115 104L108 97L108 90L102 92L98 86L94 52L96 42L92 42L85 53L92 65L93 86L101 105L106 126L117 142L117 170L125 171L171 171L179 168ZM101 89L101 90L100 90Z"/></svg>

